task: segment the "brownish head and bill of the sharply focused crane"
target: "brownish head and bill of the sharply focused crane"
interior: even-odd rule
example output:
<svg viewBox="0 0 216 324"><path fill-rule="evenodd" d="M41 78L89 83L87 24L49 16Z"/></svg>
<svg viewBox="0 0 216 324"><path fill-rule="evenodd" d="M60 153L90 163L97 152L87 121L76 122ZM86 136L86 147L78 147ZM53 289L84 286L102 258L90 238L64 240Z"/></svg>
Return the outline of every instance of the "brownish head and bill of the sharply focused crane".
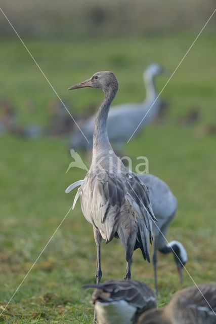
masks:
<svg viewBox="0 0 216 324"><path fill-rule="evenodd" d="M85 88L85 87L102 89L105 93L110 90L116 93L118 90L118 80L113 72L110 71L96 72L89 79L68 88L68 90Z"/></svg>

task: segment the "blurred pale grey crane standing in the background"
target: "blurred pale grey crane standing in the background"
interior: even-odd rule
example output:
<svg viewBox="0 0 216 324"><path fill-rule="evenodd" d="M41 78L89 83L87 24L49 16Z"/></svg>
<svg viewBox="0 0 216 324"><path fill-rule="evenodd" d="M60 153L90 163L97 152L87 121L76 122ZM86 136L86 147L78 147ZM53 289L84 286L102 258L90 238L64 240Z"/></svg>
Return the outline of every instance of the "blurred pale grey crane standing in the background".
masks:
<svg viewBox="0 0 216 324"><path fill-rule="evenodd" d="M108 136L109 140L118 148L133 134L151 106L152 107L142 121L139 130L141 130L145 125L149 124L150 121L157 115L160 109L161 101L160 98L156 100L157 91L154 85L154 78L161 72L162 68L156 63L150 64L143 72L143 79L146 86L146 99L143 102L120 104L112 106L110 109L107 119ZM81 127L90 144L83 137L81 132L77 130L71 135L70 146L72 148L90 149L92 147L95 118L96 115L87 119Z"/></svg>

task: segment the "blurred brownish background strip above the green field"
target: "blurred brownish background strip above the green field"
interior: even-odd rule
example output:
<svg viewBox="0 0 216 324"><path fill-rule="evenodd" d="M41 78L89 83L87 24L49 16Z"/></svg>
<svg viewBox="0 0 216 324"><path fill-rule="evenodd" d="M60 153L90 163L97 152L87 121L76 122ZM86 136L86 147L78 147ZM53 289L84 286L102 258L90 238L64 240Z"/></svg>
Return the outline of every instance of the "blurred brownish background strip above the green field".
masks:
<svg viewBox="0 0 216 324"><path fill-rule="evenodd" d="M29 36L137 35L194 31L215 9L214 0L2 0L2 9ZM215 27L215 19L211 22ZM3 32L13 34L0 19Z"/></svg>

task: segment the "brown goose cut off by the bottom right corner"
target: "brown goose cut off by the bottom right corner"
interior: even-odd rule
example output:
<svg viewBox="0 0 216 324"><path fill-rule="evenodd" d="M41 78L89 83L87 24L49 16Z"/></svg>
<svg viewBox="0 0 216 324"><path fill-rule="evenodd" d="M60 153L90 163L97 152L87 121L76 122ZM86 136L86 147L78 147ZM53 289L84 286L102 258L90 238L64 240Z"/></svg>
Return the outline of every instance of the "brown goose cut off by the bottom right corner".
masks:
<svg viewBox="0 0 216 324"><path fill-rule="evenodd" d="M216 324L216 284L177 292L165 308L142 314L138 324Z"/></svg>

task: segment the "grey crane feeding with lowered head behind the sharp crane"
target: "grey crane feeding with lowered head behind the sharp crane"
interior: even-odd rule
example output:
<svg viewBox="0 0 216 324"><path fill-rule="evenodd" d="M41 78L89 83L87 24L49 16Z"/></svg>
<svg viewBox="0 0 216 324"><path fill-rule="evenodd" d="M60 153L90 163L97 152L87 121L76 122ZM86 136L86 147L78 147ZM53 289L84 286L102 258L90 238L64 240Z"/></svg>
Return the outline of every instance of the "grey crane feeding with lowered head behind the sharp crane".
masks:
<svg viewBox="0 0 216 324"><path fill-rule="evenodd" d="M139 174L138 177L145 183L149 191L152 210L157 223L153 224L154 228L154 253L153 265L155 275L155 289L158 292L157 285L157 251L163 254L173 253L176 262L177 270L182 282L182 270L185 263L188 261L187 252L181 242L173 240L169 243L166 240L168 226L174 218L178 201L175 195L171 192L168 185L161 179L151 174Z"/></svg>

